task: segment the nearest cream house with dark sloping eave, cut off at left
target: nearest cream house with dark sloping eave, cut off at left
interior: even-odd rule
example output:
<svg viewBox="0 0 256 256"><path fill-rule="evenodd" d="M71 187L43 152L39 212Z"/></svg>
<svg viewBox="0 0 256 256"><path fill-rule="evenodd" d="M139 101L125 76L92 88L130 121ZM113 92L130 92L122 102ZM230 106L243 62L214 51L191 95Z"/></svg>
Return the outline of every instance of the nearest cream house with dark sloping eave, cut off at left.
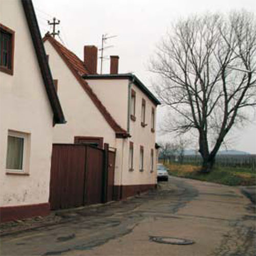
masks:
<svg viewBox="0 0 256 256"><path fill-rule="evenodd" d="M1 221L44 216L53 125L65 118L30 0L0 1L0 45Z"/></svg>

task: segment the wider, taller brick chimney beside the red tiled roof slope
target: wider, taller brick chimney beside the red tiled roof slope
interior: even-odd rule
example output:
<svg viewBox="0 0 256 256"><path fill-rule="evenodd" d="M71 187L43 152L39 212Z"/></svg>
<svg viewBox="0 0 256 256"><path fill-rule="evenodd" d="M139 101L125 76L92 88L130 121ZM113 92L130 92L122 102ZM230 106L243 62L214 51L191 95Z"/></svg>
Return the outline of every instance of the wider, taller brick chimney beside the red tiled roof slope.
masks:
<svg viewBox="0 0 256 256"><path fill-rule="evenodd" d="M83 63L90 74L97 74L98 48L96 46L84 46Z"/></svg>

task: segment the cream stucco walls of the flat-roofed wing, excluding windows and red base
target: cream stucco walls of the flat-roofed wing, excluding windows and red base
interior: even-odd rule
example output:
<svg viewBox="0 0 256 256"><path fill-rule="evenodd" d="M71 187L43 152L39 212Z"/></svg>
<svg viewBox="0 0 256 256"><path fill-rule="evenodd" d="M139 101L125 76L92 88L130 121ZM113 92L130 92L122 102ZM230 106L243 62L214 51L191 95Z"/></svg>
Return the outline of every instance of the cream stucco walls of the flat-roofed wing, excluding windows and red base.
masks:
<svg viewBox="0 0 256 256"><path fill-rule="evenodd" d="M97 93L99 99L104 103L116 121L127 129L128 112L128 89L129 80L119 79L88 79L93 90ZM136 92L136 121L130 119L131 138L121 140L117 139L117 150L119 155L116 158L118 166L122 166L122 173L116 174L115 184L135 185L135 184L155 184L156 183L156 133L151 132L151 114L152 108L156 105L135 85L132 89ZM141 105L142 98L145 99L145 123L147 126L141 126ZM155 125L156 127L156 125ZM130 141L134 143L134 171L129 171L129 147ZM139 171L140 145L144 147L144 171ZM154 150L154 170L151 172L151 150Z"/></svg>

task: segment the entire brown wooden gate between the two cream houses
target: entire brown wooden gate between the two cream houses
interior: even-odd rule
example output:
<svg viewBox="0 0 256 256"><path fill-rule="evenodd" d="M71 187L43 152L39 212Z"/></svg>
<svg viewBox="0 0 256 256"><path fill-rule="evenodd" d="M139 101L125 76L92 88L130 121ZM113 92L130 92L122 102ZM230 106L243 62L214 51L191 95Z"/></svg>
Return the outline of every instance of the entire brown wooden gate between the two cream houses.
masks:
<svg viewBox="0 0 256 256"><path fill-rule="evenodd" d="M113 200L114 170L115 152L85 144L53 144L51 209Z"/></svg>

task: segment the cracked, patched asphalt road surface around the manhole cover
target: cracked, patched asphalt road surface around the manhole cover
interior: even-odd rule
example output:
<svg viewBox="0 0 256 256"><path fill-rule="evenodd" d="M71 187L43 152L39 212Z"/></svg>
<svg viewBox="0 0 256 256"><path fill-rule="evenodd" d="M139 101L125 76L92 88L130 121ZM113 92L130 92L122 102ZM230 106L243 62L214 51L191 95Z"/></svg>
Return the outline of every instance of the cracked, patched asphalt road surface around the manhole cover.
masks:
<svg viewBox="0 0 256 256"><path fill-rule="evenodd" d="M238 187L169 177L147 194L58 215L65 222L2 237L1 255L256 254L255 206Z"/></svg>

